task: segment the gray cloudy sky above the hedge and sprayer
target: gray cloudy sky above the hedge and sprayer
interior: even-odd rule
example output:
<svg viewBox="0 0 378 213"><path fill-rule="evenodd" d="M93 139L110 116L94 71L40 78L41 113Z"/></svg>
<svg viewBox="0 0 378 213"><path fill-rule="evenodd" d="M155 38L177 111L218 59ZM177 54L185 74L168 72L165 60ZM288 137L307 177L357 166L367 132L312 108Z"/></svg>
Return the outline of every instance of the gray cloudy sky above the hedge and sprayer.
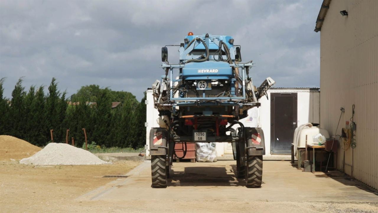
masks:
<svg viewBox="0 0 378 213"><path fill-rule="evenodd" d="M234 36L255 85L319 87L315 21L321 1L0 1L0 78L10 98L23 85L56 77L68 95L98 84L138 100L155 79L161 47L187 32ZM169 49L169 61L178 59Z"/></svg>

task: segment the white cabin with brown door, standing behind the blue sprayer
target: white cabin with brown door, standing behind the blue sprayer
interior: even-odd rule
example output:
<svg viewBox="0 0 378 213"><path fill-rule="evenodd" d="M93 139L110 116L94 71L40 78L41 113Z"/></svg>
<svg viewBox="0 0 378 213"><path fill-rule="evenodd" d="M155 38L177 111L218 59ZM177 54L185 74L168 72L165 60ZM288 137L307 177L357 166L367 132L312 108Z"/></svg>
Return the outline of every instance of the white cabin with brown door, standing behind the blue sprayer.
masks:
<svg viewBox="0 0 378 213"><path fill-rule="evenodd" d="M319 88L273 88L268 98L260 99L261 107L248 110L248 116L241 119L245 127L260 127L265 136L264 160L290 160L294 130L305 123L319 123ZM149 130L159 127L156 119L152 90L147 90L146 146L149 146ZM233 128L237 128L234 125ZM149 147L148 147L149 148ZM231 143L217 143L218 160L231 160ZM149 158L148 149L146 156Z"/></svg>

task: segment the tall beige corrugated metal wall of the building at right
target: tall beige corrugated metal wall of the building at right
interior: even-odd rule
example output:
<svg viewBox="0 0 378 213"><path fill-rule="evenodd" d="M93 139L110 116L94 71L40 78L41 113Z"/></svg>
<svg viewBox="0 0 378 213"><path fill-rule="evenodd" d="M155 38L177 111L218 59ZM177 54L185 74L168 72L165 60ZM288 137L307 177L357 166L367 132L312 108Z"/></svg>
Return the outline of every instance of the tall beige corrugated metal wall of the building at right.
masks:
<svg viewBox="0 0 378 213"><path fill-rule="evenodd" d="M349 15L341 16L346 10ZM321 28L321 127L337 134L352 117L356 148L338 152L338 168L378 189L378 1L332 0ZM352 166L353 165L353 168ZM353 172L352 172L353 169ZM352 174L353 173L353 174Z"/></svg>

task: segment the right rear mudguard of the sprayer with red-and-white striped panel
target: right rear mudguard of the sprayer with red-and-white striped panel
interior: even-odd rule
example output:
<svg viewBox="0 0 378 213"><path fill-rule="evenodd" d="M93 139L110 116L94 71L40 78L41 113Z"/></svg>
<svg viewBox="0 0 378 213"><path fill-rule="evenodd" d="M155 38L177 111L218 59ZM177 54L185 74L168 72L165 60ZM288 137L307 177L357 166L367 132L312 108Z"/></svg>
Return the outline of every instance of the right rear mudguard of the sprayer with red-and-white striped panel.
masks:
<svg viewBox="0 0 378 213"><path fill-rule="evenodd" d="M246 127L245 137L248 155L265 155L264 132L261 128Z"/></svg>

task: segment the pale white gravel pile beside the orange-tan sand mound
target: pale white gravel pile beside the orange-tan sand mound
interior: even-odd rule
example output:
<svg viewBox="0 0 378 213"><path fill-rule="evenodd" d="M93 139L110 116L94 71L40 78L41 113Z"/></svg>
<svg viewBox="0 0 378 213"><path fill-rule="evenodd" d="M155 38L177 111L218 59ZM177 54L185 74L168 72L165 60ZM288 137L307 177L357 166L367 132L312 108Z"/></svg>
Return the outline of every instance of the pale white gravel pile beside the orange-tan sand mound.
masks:
<svg viewBox="0 0 378 213"><path fill-rule="evenodd" d="M90 165L109 163L87 150L64 143L49 143L33 156L20 160L22 164L33 165Z"/></svg>

